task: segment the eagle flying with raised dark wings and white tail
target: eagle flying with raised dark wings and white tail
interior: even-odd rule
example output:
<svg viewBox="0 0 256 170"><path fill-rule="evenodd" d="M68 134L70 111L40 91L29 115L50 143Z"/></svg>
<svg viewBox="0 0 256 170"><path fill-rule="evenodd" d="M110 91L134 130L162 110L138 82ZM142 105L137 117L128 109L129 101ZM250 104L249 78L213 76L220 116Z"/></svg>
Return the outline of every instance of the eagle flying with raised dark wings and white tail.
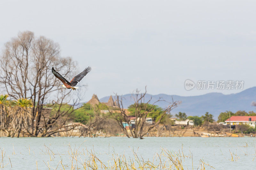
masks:
<svg viewBox="0 0 256 170"><path fill-rule="evenodd" d="M91 71L91 69L92 69L91 67L87 67L86 69L84 69L84 71L82 71L81 73L77 74L70 82L66 78L62 77L60 75L60 73L58 73L56 70L54 70L53 67L52 67L52 73L54 74L54 76L56 78L59 78L60 81L64 84L64 85L62 85L62 87L67 88L67 89L76 90L76 89L78 89L78 87L75 87L76 84L79 81L81 81L82 78L84 78L84 76Z"/></svg>

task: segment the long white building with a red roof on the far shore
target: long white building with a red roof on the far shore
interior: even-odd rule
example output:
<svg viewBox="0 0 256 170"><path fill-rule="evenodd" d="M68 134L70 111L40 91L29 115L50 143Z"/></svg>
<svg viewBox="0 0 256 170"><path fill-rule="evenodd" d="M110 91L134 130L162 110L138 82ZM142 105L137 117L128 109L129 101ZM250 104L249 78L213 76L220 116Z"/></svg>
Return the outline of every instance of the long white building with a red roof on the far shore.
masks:
<svg viewBox="0 0 256 170"><path fill-rule="evenodd" d="M255 127L256 116L231 116L225 121L225 124L231 124L231 125L247 124L249 126Z"/></svg>

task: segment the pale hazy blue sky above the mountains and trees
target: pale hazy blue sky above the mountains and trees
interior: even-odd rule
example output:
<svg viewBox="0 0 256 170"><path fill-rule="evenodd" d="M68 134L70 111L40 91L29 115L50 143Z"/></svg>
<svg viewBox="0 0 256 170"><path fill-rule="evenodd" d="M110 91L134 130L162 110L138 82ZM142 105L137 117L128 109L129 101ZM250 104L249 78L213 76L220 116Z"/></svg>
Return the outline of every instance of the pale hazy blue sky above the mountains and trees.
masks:
<svg viewBox="0 0 256 170"><path fill-rule="evenodd" d="M19 31L44 35L92 67L84 101L148 86L191 96L186 79L256 85L255 1L0 1L0 48Z"/></svg>

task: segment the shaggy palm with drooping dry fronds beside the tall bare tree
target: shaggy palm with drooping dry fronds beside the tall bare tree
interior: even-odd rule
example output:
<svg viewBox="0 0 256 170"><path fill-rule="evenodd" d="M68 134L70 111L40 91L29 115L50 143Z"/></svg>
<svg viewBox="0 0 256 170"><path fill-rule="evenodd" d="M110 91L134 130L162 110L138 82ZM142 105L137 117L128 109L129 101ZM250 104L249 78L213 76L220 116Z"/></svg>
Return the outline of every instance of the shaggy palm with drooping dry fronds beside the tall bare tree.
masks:
<svg viewBox="0 0 256 170"><path fill-rule="evenodd" d="M14 128L14 133L12 137L17 132L18 136L20 136L20 131L22 129L29 128L29 118L30 118L30 111L32 102L28 99L18 99L13 102L13 109L12 109L12 125Z"/></svg>

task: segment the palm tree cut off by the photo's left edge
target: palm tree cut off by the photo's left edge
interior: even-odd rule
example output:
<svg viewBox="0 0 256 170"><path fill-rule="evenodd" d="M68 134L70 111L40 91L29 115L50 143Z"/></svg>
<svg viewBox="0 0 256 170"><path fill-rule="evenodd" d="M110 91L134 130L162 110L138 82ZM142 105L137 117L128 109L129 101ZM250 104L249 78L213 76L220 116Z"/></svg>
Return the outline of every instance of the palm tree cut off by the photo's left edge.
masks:
<svg viewBox="0 0 256 170"><path fill-rule="evenodd" d="M0 95L0 136L2 135L2 130L7 130L9 123L9 107L7 107L9 101L7 97L8 95ZM7 136L9 136L9 133Z"/></svg>

